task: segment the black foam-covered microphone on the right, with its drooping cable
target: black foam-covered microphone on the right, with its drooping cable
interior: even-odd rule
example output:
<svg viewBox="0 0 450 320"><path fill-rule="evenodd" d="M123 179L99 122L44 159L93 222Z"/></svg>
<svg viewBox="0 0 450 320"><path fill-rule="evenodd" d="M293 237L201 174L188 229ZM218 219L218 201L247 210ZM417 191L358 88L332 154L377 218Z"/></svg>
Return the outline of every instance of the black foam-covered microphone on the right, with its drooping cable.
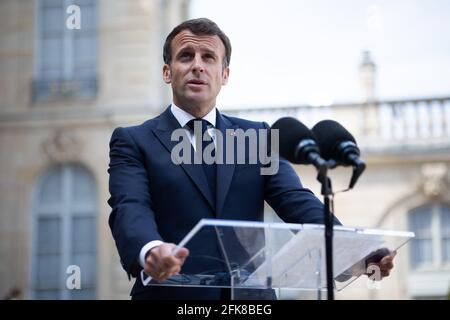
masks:
<svg viewBox="0 0 450 320"><path fill-rule="evenodd" d="M316 136L321 155L325 160L334 160L336 165L354 167L349 187L353 188L366 168L366 164L360 159L361 153L353 135L333 120L318 122L312 128L312 132Z"/></svg>

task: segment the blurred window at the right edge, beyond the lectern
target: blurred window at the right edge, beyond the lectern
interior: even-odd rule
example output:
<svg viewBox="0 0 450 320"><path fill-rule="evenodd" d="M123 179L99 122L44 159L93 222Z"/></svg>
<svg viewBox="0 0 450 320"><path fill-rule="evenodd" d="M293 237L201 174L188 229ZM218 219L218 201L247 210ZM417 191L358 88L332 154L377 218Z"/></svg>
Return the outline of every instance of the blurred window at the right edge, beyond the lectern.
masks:
<svg viewBox="0 0 450 320"><path fill-rule="evenodd" d="M412 210L409 228L416 237L411 241L413 269L435 269L450 264L450 207L429 204Z"/></svg>

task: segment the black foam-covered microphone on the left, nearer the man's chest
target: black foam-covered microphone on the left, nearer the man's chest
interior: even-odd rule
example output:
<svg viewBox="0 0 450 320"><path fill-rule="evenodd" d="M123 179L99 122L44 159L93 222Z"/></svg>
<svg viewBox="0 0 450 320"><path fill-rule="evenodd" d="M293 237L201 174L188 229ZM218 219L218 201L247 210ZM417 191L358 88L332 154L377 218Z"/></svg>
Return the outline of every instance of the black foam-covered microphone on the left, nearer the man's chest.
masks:
<svg viewBox="0 0 450 320"><path fill-rule="evenodd" d="M271 129L279 130L280 155L296 164L313 164L319 171L327 169L320 156L316 137L303 123L295 118L278 119Z"/></svg>

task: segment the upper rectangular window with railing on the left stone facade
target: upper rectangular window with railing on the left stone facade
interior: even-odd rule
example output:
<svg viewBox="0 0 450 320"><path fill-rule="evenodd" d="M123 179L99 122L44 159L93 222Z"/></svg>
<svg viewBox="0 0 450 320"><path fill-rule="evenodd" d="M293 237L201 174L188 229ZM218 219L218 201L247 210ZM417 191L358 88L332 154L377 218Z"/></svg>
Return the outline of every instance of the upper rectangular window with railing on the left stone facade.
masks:
<svg viewBox="0 0 450 320"><path fill-rule="evenodd" d="M66 9L80 7L80 29L69 29ZM92 97L97 92L97 5L95 0L38 2L37 66L33 99Z"/></svg>

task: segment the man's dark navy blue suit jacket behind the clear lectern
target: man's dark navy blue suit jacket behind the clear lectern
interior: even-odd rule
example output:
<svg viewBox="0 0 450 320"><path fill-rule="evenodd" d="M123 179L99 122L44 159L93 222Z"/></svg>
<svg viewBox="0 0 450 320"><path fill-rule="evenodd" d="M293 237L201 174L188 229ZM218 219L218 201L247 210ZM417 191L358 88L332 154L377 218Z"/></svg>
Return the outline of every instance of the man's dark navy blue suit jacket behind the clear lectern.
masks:
<svg viewBox="0 0 450 320"><path fill-rule="evenodd" d="M217 112L217 129L268 129L262 122L228 117ZM145 123L114 130L110 142L109 225L121 263L129 275L141 267L141 248L152 240L179 243L202 218L262 221L264 200L290 223L323 223L323 205L303 188L291 165L280 159L275 175L261 175L261 164L218 164L216 197L201 166L171 161L171 141L180 124L167 108ZM209 238L208 238L209 237ZM204 235L197 250L220 255L214 234ZM193 244L195 246L195 244ZM189 259L187 260L189 261ZM184 266L193 271L196 266ZM155 299L215 299L217 289L144 287L140 277L133 296Z"/></svg>

